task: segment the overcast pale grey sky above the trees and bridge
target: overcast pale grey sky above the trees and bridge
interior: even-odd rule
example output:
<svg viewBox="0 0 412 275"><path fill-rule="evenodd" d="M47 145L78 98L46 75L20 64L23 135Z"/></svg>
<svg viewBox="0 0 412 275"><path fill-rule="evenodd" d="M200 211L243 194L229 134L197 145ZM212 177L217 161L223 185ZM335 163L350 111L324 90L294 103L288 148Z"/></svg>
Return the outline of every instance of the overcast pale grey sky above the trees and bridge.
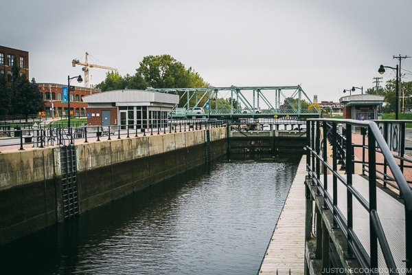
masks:
<svg viewBox="0 0 412 275"><path fill-rule="evenodd" d="M312 100L383 85L412 56L411 0L2 0L0 45L30 54L30 78L67 83L73 58L135 74L170 54L215 87L301 85ZM91 68L90 83L106 70ZM405 81L412 58L402 60ZM356 90L360 93L360 90Z"/></svg>

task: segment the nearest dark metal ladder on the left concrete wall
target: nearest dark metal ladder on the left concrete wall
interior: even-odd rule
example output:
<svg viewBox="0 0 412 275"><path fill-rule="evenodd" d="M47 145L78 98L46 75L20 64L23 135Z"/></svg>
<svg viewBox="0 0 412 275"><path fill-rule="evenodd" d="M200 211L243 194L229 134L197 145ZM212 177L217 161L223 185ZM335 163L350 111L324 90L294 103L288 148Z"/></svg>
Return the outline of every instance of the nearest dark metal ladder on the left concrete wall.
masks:
<svg viewBox="0 0 412 275"><path fill-rule="evenodd" d="M79 214L75 146L60 147L60 164L62 167L63 217L70 219Z"/></svg>

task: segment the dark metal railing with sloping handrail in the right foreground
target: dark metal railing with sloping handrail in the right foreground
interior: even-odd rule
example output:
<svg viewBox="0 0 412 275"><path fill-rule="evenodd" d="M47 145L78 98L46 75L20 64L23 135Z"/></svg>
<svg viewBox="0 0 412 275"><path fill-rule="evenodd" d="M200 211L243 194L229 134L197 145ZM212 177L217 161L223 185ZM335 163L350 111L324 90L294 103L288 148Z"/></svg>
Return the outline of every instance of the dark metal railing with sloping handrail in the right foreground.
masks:
<svg viewBox="0 0 412 275"><path fill-rule="evenodd" d="M410 122L410 121L408 121ZM337 124L346 124L346 129L348 131L345 133L345 161L346 161L346 177L343 177L337 172L337 147L342 146L343 144L338 145L337 138L338 134L336 133ZM397 122L404 123L404 122ZM323 127L323 133L321 133L321 126ZM358 161L354 160L354 144L352 144L352 126L358 126L363 129L367 129L367 147L368 151L368 161L370 162L369 170L369 198L365 199L359 192L352 186L352 174L354 173L354 164ZM387 140L380 132L378 125L373 121L358 121L358 120L323 120L323 119L310 119L307 122L308 137L306 146L307 149L307 170L309 177L312 178L314 183L317 185L318 194L323 195L325 198L325 206L330 208L334 217L334 225L339 226L342 229L343 234L347 238L347 254L352 254L356 256L361 266L365 268L374 268L378 267L378 243L380 245L380 250L385 259L387 267L393 271L393 274L396 274L396 264L393 260L391 250L387 243L385 237L385 232L382 229L380 219L378 216L378 210L376 210L376 155L382 154L385 157L385 164L389 168L393 179L396 182L396 186L400 190L402 199L404 202L404 211L405 211L405 256L404 260L405 265L408 270L412 269L412 191L409 187L407 180L404 178L400 165L396 162L396 156L393 155L393 151L389 148ZM332 128L332 131L330 129ZM325 143L328 140L327 134L332 133L332 165L328 163L327 156L325 154L325 147L321 148L319 140L323 140ZM371 145L371 144L375 144ZM363 144L365 145L365 144ZM404 144L403 144L404 145ZM399 159L399 158L398 158ZM363 158L365 162L365 158ZM321 184L321 167L323 172L323 186ZM334 195L333 199L328 195L328 181L325 174L328 173L328 170L331 171L334 181L333 181L333 190ZM364 169L363 169L364 171ZM339 210L337 206L336 199L336 185L337 181L340 181L346 186L347 189L347 219L343 216L343 212ZM353 229L353 219L352 219L352 199L358 201L365 210L369 212L369 223L370 223L370 255L365 251L361 241L359 241L358 236L356 236ZM343 210L346 211L346 210Z"/></svg>

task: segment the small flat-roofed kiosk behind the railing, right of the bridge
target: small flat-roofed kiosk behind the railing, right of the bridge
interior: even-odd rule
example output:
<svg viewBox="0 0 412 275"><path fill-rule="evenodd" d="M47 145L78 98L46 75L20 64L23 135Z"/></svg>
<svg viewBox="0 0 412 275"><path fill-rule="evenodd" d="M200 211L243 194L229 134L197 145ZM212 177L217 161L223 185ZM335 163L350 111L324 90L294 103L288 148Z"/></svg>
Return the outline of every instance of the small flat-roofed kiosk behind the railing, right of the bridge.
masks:
<svg viewBox="0 0 412 275"><path fill-rule="evenodd" d="M377 120L380 118L384 98L373 94L343 96L339 99L343 104L343 118Z"/></svg>

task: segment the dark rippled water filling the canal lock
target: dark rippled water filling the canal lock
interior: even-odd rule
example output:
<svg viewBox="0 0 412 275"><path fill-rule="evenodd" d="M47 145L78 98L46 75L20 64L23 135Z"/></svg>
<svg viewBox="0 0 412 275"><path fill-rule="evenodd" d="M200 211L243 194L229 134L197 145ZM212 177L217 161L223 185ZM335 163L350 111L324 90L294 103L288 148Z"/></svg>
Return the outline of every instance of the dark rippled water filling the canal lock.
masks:
<svg viewBox="0 0 412 275"><path fill-rule="evenodd" d="M0 274L257 274L299 159L231 159L3 245Z"/></svg>

